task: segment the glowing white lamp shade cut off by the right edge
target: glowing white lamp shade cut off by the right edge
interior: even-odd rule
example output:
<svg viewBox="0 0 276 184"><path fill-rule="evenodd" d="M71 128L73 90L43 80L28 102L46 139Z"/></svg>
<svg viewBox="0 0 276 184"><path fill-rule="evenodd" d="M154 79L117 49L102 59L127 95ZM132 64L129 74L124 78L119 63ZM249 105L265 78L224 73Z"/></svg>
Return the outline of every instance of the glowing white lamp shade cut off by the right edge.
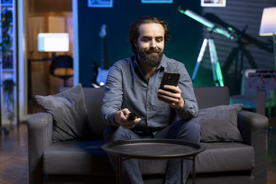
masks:
<svg viewBox="0 0 276 184"><path fill-rule="evenodd" d="M276 7L264 8L259 36L276 34Z"/></svg>

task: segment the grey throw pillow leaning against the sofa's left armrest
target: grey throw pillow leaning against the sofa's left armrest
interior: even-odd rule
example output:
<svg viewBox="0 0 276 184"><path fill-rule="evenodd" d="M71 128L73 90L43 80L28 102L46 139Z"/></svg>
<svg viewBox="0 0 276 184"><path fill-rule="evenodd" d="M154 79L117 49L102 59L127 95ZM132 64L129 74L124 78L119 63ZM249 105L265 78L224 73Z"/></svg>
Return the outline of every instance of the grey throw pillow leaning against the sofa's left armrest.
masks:
<svg viewBox="0 0 276 184"><path fill-rule="evenodd" d="M59 94L34 97L41 108L53 116L54 142L88 136L90 123L81 84Z"/></svg>

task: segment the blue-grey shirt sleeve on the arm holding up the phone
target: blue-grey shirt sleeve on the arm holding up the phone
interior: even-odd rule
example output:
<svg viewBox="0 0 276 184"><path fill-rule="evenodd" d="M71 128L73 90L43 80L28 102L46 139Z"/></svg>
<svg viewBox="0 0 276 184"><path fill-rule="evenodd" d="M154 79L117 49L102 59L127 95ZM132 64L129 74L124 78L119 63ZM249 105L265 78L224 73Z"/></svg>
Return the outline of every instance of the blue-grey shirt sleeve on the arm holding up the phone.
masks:
<svg viewBox="0 0 276 184"><path fill-rule="evenodd" d="M178 86L185 104L183 108L177 110L177 115L180 119L190 119L196 117L198 114L198 105L197 99L195 98L193 83L184 65L178 72L180 73Z"/></svg>

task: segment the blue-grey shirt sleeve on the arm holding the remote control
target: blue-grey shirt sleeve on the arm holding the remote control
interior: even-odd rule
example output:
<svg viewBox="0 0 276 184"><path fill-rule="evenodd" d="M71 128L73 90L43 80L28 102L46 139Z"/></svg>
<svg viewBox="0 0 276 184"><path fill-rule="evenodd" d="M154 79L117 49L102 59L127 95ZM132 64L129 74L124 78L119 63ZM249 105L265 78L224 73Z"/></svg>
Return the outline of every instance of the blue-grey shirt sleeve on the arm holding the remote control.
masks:
<svg viewBox="0 0 276 184"><path fill-rule="evenodd" d="M121 110L123 98L121 70L117 65L113 65L108 72L106 79L105 95L101 105L101 116L105 123L112 126L119 126L114 121L114 114Z"/></svg>

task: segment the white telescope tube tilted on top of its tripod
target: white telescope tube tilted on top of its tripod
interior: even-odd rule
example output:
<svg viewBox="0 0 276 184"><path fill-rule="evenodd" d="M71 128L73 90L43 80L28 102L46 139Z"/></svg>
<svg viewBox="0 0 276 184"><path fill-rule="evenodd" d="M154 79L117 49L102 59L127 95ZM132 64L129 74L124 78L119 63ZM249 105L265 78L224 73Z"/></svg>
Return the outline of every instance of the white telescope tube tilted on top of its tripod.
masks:
<svg viewBox="0 0 276 184"><path fill-rule="evenodd" d="M199 21L199 23L202 23L203 25L206 25L211 32L222 34L228 39L237 41L237 37L235 37L235 30L233 28L228 27L228 30L224 28L219 28L217 25L215 25L215 23L208 21L204 17L201 17L199 14L191 10L188 10L184 6L179 6L178 11L181 12L181 14L186 14L188 17L195 19L196 21Z"/></svg>

